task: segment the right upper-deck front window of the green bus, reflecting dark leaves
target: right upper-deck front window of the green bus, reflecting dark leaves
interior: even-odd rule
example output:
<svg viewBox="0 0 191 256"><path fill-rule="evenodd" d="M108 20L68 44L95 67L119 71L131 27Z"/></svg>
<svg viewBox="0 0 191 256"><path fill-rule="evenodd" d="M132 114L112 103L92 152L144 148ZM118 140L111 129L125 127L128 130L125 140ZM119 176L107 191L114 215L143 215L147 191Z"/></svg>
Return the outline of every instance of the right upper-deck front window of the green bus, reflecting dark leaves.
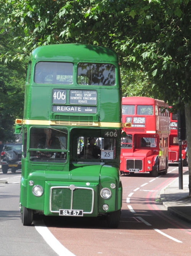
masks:
<svg viewBox="0 0 191 256"><path fill-rule="evenodd" d="M103 63L79 63L78 84L81 85L115 85L115 66Z"/></svg>

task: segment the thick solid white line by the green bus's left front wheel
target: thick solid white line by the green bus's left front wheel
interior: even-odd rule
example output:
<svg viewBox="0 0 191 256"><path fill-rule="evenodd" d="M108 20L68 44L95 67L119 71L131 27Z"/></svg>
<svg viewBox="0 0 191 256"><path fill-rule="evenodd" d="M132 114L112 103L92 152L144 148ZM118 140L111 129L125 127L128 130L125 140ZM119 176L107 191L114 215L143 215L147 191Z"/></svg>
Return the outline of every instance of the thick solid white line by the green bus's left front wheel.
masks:
<svg viewBox="0 0 191 256"><path fill-rule="evenodd" d="M44 221L33 221L36 230L59 256L75 256L52 235Z"/></svg>

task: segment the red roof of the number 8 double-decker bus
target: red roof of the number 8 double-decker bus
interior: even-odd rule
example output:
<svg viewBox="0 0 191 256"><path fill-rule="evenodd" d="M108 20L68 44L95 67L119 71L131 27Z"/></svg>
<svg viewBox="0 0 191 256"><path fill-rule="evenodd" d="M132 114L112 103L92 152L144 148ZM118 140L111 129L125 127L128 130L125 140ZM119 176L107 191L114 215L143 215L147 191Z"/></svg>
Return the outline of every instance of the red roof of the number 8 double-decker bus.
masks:
<svg viewBox="0 0 191 256"><path fill-rule="evenodd" d="M162 107L168 107L168 104L164 101L160 101L159 99L152 99L149 97L123 97L122 98L123 105L158 105Z"/></svg>

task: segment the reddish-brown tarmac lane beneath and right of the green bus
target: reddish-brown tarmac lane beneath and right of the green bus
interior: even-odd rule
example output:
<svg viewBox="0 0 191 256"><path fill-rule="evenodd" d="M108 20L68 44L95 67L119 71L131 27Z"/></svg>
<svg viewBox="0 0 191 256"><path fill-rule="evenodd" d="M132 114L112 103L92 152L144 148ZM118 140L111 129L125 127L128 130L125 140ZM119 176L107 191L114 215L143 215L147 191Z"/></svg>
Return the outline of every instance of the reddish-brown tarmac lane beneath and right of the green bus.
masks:
<svg viewBox="0 0 191 256"><path fill-rule="evenodd" d="M122 175L123 206L117 229L107 228L99 218L63 217L62 222L45 218L45 224L76 256L190 255L191 225L170 215L159 197L160 190L176 177L177 166L156 178L148 173Z"/></svg>

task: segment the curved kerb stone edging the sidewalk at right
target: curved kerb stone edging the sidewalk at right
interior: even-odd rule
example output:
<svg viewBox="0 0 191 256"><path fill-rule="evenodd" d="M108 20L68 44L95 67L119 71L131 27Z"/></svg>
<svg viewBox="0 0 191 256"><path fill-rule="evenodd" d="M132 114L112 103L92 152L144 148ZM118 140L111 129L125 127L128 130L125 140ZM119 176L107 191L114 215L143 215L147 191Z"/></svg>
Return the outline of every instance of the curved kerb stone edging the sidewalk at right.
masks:
<svg viewBox="0 0 191 256"><path fill-rule="evenodd" d="M163 206L173 215L180 218L181 220L187 221L188 223L191 223L191 217L186 215L185 213L182 213L181 211L178 211L176 208L174 208L166 199L165 197L165 189L169 187L172 183L176 182L178 178L175 178L172 182L170 182L166 187L162 188L160 191L160 200L162 201Z"/></svg>

